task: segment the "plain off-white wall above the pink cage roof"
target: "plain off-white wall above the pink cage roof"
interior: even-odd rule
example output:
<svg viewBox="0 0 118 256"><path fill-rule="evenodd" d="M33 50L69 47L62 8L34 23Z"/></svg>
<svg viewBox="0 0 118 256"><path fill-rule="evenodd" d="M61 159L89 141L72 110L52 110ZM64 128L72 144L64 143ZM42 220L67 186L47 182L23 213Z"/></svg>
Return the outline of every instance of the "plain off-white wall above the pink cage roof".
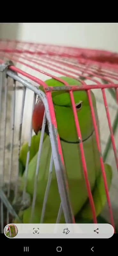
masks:
<svg viewBox="0 0 118 256"><path fill-rule="evenodd" d="M17 38L118 51L118 23L19 23Z"/></svg>

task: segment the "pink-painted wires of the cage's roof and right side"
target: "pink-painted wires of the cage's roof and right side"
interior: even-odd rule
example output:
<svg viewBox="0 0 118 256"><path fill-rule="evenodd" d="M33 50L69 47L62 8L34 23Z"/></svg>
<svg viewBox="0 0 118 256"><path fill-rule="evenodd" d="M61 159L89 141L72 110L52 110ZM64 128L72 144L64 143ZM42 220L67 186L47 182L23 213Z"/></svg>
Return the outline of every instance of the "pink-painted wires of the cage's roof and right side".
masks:
<svg viewBox="0 0 118 256"><path fill-rule="evenodd" d="M102 91L104 105L106 108L106 116L107 116L110 135L111 135L112 146L114 150L116 166L118 170L118 156L117 156L114 132L113 132L113 127L110 120L109 107L108 107L106 92L105 92L106 88L109 88L109 89L114 88L115 94L116 94L116 101L118 104L118 83L114 84L114 82L112 81L112 79L115 79L116 81L118 81L118 54L108 52L108 51L36 44L36 43L20 42L20 41L0 40L0 64L6 62L7 60L12 60L15 63L14 66L9 66L10 70L17 72L18 74L22 75L25 78L29 78L31 81L34 81L38 85L39 84L43 85L46 96L47 96L48 104L49 104L51 122L56 129L57 129L57 122L56 122L56 117L55 117L55 112L54 112L53 102L51 97L51 92L54 91L55 88L48 87L43 80L39 79L36 76L31 75L32 70L37 71L37 74L43 73L46 76L55 78L56 80L64 84L65 90L69 91L71 102L72 102L73 113L75 117L77 134L81 142L80 149L81 149L81 157L82 157L82 163L83 163L83 171L84 171L84 176L86 180L88 197L89 197L90 205L92 209L93 221L94 223L97 223L94 201L93 201L93 197L90 189L90 183L88 179L81 130L80 130L80 126L77 118L75 100L73 95L73 92L76 90L87 91L90 108L91 108L91 115L92 115L95 134L96 134L97 147L100 153L100 164L101 164L101 170L102 170L102 175L104 178L104 184L106 189L107 202L108 202L109 212L110 212L110 220L111 220L111 224L114 227L114 232L115 232L113 210L112 210L109 191L107 187L105 167L104 167L103 157L102 157L101 147L100 147L100 138L98 134L98 128L96 124L96 118L95 118L94 108L92 105L90 90L97 88ZM53 64L51 64L51 67L50 67L49 65L51 61L53 61ZM17 67L18 64L22 64L22 69ZM34 64L37 67L35 67ZM61 67L61 65L63 65L63 67ZM41 66L42 69L38 68L38 66ZM29 72L27 73L24 71L26 67L30 68L30 71L31 71L30 73ZM50 73L45 72L43 68L48 68L50 70ZM71 75L68 74L69 68L73 69L73 71L71 71ZM75 85L71 87L64 80L60 79L57 76L52 75L51 71L56 71L59 75L78 79L81 82L82 86L79 87ZM81 76L79 78L78 78L79 76L78 72L81 73ZM84 75L84 73L86 73L87 75ZM100 82L98 82L97 79L93 78L92 76L106 80L107 84L101 84ZM91 81L91 84L87 85L82 78L89 79ZM96 85L92 84L93 82L96 83ZM61 156L61 161L64 164L59 134L57 136L57 141L58 141L58 150ZM73 222L75 222L75 220L73 220Z"/></svg>

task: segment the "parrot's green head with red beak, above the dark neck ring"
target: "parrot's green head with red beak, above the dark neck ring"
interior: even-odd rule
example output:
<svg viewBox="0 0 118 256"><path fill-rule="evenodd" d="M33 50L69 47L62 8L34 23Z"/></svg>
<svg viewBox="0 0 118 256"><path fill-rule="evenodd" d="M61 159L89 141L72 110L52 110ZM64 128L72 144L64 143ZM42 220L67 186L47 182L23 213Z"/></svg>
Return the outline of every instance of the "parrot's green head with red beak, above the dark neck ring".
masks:
<svg viewBox="0 0 118 256"><path fill-rule="evenodd" d="M71 86L81 85L79 81L73 78L65 76L60 78L65 80ZM48 86L53 87L64 86L63 83L57 81L56 79L46 80L45 83ZM39 89L43 90L42 87L40 87ZM78 116L78 121L81 129L82 140L86 140L87 138L90 137L94 130L87 92L74 91L73 94L75 99L75 107ZM93 92L91 92L91 97L96 112L96 101ZM52 100L60 139L71 143L78 143L79 139L77 136L75 118L69 92L61 90L52 92ZM43 115L44 106L42 101L39 99L37 101L37 104L35 105L32 119L33 130L36 134L39 132L39 130L41 130ZM48 133L47 127L48 126L46 125L45 132Z"/></svg>

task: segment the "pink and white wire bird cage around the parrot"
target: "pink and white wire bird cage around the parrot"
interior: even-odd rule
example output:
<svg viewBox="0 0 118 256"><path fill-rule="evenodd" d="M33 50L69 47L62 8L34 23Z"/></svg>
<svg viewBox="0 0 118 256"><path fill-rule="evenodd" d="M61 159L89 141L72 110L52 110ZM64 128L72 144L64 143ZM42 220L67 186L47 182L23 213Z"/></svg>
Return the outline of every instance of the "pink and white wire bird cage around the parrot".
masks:
<svg viewBox="0 0 118 256"><path fill-rule="evenodd" d="M81 83L70 86L60 77L70 77ZM46 79L54 78L63 83L59 87L49 87ZM43 86L44 92L40 90ZM0 228L12 223L16 218L21 222L18 212L31 207L30 223L35 211L37 179L40 175L39 164L43 147L46 124L48 124L51 143L49 176L45 185L45 194L39 223L43 223L46 202L51 186L52 165L54 164L59 189L60 204L56 223L60 223L64 214L66 223L75 223L75 216L69 197L67 170L59 137L57 120L52 102L52 92L66 91L70 95L76 131L79 139L88 200L93 216L93 223L98 222L92 191L87 172L87 164L82 140L82 131L77 118L74 92L86 91L93 120L99 162L103 175L107 202L101 215L111 223L114 232L118 228L118 54L106 51L35 44L19 41L0 41ZM98 127L90 92L96 98ZM28 164L33 135L32 114L38 99L43 102L45 111L41 129L41 138L35 168L33 197L27 192ZM84 121L84 120L83 120ZM28 143L25 166L25 182L20 190L20 150ZM110 190L106 180L104 162L112 166L113 178ZM91 163L92 164L92 163ZM73 170L72 170L73 172ZM79 198L81 195L75 195ZM78 200L78 199L76 199ZM40 207L40 206L38 206ZM39 209L39 208L38 208ZM54 210L52 210L54 211ZM100 220L99 220L100 221ZM16 222L13 222L16 223Z"/></svg>

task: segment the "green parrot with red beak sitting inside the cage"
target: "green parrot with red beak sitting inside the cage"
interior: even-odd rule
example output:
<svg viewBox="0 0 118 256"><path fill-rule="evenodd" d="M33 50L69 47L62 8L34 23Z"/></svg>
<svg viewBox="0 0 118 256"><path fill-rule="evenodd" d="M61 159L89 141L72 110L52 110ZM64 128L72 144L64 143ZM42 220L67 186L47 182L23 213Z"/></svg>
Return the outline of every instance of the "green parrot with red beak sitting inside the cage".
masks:
<svg viewBox="0 0 118 256"><path fill-rule="evenodd" d="M81 83L76 79L62 76L60 77L66 81L69 85L78 85ZM48 79L45 81L48 86L63 86L64 84L56 79ZM43 90L43 87L39 87ZM96 115L96 122L99 131L98 114L96 107L96 100L93 92L91 91L91 97L93 107ZM90 188L95 204L96 215L99 216L103 207L106 204L106 191L104 187L104 180L102 176L102 170L100 165L100 156L97 148L96 135L94 131L94 125L91 116L91 109L87 92L75 91L73 92L75 99L75 106L78 116L78 121L81 129L83 148L86 159L88 177L90 182ZM69 92L67 91L55 91L52 92L52 101L54 105L54 111L56 115L57 127L67 171L67 179L69 185L69 196L75 216L76 223L90 223L92 221L92 211L89 203L88 192L86 188L86 182L84 178L83 165L81 160L81 151L79 140L77 136L75 118L73 115L73 109ZM30 147L30 159L28 164L28 181L26 192L30 194L31 200L34 192L34 180L37 164L37 155L39 149L39 142L41 136L41 123L43 121L44 106L41 105L39 100L35 105L33 113L33 129L35 134L31 140ZM21 176L21 189L23 189L25 178L25 166L28 152L28 143L24 143L20 151L20 176ZM32 219L32 223L40 223L43 199L45 195L45 189L49 176L49 166L51 158L51 141L48 132L48 125L46 123L45 133L43 138L43 147L40 157L38 186L35 203L35 211ZM105 172L107 178L108 189L112 182L112 168L108 164L105 165ZM58 191L58 184L56 179L56 173L54 164L52 167L52 180L48 200L46 204L46 211L43 219L43 223L56 223L57 215L59 212L61 200ZM22 223L30 223L31 206L22 212ZM21 213L20 213L21 214ZM77 217L77 218L76 218ZM15 220L14 223L17 223ZM65 223L64 214L62 213L59 223Z"/></svg>

